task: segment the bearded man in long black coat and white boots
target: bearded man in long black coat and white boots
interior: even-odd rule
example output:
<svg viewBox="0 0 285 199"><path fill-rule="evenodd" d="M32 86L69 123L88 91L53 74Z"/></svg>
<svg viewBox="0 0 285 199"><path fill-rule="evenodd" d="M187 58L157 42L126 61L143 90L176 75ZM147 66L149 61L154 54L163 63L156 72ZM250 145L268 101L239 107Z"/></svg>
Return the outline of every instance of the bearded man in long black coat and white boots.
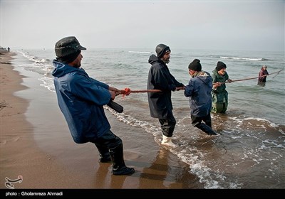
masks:
<svg viewBox="0 0 285 199"><path fill-rule="evenodd" d="M162 129L162 142L165 146L175 147L172 134L176 120L172 114L171 92L184 89L184 85L170 74L167 63L170 63L170 48L159 44L155 48L157 56L150 55L148 63L152 66L148 73L147 90L161 90L161 92L147 92L150 116L158 118Z"/></svg>

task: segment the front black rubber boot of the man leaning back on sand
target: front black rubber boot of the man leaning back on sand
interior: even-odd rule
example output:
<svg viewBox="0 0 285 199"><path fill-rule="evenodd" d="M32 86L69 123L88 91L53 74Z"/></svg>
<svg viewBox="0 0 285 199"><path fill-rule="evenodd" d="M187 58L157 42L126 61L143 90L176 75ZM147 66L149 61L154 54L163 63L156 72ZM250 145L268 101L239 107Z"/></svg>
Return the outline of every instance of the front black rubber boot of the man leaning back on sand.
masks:
<svg viewBox="0 0 285 199"><path fill-rule="evenodd" d="M135 169L125 166L123 144L120 144L117 148L110 150L110 156L113 161L113 175L120 176L135 173Z"/></svg>

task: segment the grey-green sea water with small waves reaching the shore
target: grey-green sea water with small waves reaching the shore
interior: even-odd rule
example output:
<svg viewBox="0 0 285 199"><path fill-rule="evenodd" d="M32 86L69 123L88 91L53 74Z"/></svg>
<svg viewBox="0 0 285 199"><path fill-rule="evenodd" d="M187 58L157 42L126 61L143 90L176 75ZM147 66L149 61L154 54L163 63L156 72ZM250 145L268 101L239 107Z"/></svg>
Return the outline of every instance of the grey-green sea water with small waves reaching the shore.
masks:
<svg viewBox="0 0 285 199"><path fill-rule="evenodd" d="M153 49L88 49L83 51L82 68L90 77L120 90L145 90ZM53 50L18 50L14 65L36 72L41 86L54 92ZM232 80L227 83L229 107L226 114L212 114L212 126L219 136L207 136L192 127L190 107L183 91L172 92L177 126L171 153L189 166L204 188L285 188L285 70L284 52L172 49L168 67L185 85L190 80L189 63L198 58L202 70L212 73L217 61L227 64ZM262 65L269 75L264 87L257 85ZM274 73L282 70L279 73ZM146 93L118 96L115 102L124 112L115 115L118 122L137 127L161 141L160 125L150 117ZM31 123L33 123L31 121ZM115 131L115 127L113 127ZM125 139L135 139L132 134Z"/></svg>

